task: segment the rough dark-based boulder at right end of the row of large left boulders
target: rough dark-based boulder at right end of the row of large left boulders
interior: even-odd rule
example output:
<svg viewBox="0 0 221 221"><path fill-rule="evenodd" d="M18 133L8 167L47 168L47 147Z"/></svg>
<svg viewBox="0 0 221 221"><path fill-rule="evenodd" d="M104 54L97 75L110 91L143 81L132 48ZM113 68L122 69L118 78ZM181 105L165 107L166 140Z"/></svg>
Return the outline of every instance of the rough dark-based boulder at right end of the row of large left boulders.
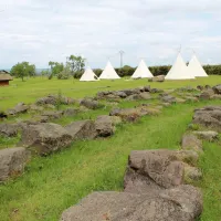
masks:
<svg viewBox="0 0 221 221"><path fill-rule="evenodd" d="M108 137L113 135L115 127L112 116L98 116L95 120L95 129L99 137Z"/></svg>

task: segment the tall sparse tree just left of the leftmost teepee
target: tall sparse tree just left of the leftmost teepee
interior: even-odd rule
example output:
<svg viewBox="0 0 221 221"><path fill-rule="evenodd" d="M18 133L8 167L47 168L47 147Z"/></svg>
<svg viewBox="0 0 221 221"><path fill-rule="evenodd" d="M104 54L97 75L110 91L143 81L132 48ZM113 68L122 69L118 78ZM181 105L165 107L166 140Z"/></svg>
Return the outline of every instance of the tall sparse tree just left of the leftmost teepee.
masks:
<svg viewBox="0 0 221 221"><path fill-rule="evenodd" d="M71 74L74 77L76 73L82 72L85 67L85 59L82 56L71 55L69 57L69 63L71 67Z"/></svg>

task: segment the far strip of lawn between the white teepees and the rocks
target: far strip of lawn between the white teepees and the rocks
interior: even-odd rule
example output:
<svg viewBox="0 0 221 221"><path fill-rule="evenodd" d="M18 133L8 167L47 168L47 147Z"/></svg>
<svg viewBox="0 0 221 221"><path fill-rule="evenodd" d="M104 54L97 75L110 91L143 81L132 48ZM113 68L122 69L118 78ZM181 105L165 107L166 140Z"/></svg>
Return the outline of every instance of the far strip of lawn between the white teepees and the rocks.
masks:
<svg viewBox="0 0 221 221"><path fill-rule="evenodd" d="M20 102L27 104L35 102L36 98L48 94L61 92L73 98L93 96L99 91L114 91L134 88L144 85L151 85L158 88L176 88L181 86L215 85L221 82L221 76L201 77L191 81L168 81L165 83L149 83L147 80L130 81L126 78L116 81L80 82L78 80L48 80L42 77L29 78L22 82L15 78L10 82L9 87L0 87L0 110L11 108Z"/></svg>

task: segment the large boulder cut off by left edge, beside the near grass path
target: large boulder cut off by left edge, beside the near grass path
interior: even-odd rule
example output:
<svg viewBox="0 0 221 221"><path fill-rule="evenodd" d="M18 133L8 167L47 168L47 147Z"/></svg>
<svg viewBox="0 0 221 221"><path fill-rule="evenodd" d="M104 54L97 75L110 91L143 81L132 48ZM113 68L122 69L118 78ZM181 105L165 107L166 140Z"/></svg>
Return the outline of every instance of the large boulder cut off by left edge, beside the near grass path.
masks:
<svg viewBox="0 0 221 221"><path fill-rule="evenodd" d="M0 182L6 181L9 177L22 173L29 159L30 152L25 148L0 150Z"/></svg>

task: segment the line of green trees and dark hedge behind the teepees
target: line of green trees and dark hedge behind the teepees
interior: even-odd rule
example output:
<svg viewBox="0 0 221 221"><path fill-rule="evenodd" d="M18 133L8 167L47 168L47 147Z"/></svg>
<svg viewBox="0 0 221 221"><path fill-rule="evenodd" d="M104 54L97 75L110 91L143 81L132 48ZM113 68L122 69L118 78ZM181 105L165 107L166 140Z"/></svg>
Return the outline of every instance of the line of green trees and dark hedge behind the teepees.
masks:
<svg viewBox="0 0 221 221"><path fill-rule="evenodd" d="M70 77L80 78L84 72L85 59L82 56L70 55L65 64L50 61L49 66L50 70L44 70L41 72L41 75L46 76L49 80L53 77L57 77L59 80L69 80ZM167 75L170 69L171 65L149 67L154 76ZM221 65L204 65L203 69L208 75L221 75ZM131 76L136 67L125 65L115 70L120 77L124 77ZM99 76L103 70L95 69L94 72L97 76ZM18 63L11 69L11 75L20 77L22 81L24 81L24 77L33 77L36 75L35 65L30 64L29 62Z"/></svg>

